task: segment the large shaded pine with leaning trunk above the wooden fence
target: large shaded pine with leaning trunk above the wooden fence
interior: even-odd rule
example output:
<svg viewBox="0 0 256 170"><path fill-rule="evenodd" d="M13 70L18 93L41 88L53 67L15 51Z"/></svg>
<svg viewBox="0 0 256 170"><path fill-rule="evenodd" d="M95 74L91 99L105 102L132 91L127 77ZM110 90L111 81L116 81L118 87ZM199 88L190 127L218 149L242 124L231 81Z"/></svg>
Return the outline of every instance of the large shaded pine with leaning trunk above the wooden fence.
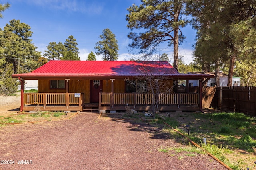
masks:
<svg viewBox="0 0 256 170"><path fill-rule="evenodd" d="M215 64L216 70L228 65L228 86L232 86L235 61L245 57L242 55L244 49L250 49L244 48L244 42L246 35L253 32L249 29L241 32L240 26L249 21L247 27L255 28L255 1L189 0L187 4L187 11L193 16L193 26L198 29L195 56L202 59L202 65L205 61Z"/></svg>

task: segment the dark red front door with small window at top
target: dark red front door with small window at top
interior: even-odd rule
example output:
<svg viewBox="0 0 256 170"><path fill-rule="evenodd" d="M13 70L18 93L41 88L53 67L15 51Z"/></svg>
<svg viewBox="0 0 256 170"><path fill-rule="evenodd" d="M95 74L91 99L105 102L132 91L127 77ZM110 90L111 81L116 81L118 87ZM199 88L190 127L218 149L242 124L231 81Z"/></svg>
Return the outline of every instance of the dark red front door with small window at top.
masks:
<svg viewBox="0 0 256 170"><path fill-rule="evenodd" d="M99 93L102 92L102 80L90 80L90 103L99 102Z"/></svg>

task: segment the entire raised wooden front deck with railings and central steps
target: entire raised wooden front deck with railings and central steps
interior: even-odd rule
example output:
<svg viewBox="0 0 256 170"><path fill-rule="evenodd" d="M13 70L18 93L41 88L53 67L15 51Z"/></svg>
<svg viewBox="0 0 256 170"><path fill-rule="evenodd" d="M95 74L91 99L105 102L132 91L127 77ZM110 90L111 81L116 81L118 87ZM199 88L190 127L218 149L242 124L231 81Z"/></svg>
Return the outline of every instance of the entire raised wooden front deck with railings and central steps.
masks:
<svg viewBox="0 0 256 170"><path fill-rule="evenodd" d="M146 93L99 93L98 103L84 103L84 94L24 93L23 111L136 111L152 110L153 96ZM156 101L156 99L155 99ZM172 93L158 96L156 111L199 111L198 93Z"/></svg>

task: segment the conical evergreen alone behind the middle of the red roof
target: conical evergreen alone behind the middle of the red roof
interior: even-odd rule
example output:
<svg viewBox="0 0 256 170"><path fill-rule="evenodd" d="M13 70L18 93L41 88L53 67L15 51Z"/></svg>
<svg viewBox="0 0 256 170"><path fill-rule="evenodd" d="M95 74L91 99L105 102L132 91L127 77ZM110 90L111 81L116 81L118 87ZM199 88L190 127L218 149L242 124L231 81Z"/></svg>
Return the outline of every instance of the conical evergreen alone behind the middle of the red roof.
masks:
<svg viewBox="0 0 256 170"><path fill-rule="evenodd" d="M102 35L99 36L102 41L98 41L96 43L96 55L103 55L103 60L117 60L118 59L118 41L116 40L116 36L110 31L110 29L106 28L103 30Z"/></svg>

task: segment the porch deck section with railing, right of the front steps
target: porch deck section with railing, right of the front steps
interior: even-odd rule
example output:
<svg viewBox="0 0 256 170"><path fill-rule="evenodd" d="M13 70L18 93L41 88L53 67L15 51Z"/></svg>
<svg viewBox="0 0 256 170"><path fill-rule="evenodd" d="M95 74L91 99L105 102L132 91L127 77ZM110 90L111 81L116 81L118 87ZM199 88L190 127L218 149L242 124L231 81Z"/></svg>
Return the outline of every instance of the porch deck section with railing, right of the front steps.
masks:
<svg viewBox="0 0 256 170"><path fill-rule="evenodd" d="M159 101L156 111L200 111L199 93L161 93L155 98L158 98ZM100 112L124 111L127 104L135 111L150 111L153 106L153 95L146 93L99 94Z"/></svg>

